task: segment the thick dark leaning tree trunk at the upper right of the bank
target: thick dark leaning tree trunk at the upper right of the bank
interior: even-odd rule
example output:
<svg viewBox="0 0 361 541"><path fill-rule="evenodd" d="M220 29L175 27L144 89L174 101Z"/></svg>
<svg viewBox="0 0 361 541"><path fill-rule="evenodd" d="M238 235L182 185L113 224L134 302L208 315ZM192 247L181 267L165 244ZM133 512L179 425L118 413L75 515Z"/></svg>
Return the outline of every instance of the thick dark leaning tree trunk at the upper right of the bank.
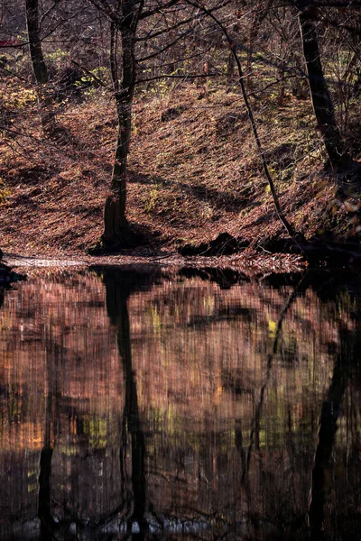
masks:
<svg viewBox="0 0 361 541"><path fill-rule="evenodd" d="M304 59L309 78L310 97L319 131L325 143L332 169L337 175L347 176L355 169L355 162L347 152L336 123L335 110L329 87L324 78L319 56L319 41L315 25L317 8L308 0L297 3Z"/></svg>

